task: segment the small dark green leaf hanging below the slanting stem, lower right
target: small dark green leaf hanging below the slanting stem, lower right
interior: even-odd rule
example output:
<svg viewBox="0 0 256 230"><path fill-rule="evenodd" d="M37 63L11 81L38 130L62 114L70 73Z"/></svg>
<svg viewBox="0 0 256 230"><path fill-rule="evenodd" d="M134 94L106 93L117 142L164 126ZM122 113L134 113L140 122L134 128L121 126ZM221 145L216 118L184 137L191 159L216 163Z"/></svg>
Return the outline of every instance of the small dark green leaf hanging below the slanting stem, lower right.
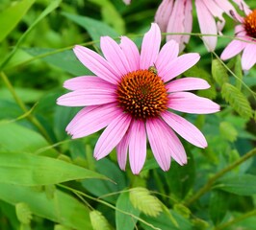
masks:
<svg viewBox="0 0 256 230"><path fill-rule="evenodd" d="M226 215L228 198L228 194L222 191L213 191L211 193L209 213L215 225L218 225Z"/></svg>

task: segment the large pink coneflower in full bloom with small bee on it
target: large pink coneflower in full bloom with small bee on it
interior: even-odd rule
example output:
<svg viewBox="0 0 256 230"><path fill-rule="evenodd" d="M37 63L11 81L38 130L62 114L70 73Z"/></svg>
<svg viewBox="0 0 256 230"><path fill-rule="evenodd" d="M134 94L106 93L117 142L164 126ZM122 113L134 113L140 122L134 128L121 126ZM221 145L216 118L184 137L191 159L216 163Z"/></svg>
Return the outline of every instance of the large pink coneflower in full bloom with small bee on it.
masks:
<svg viewBox="0 0 256 230"><path fill-rule="evenodd" d="M173 132L199 148L207 146L203 134L173 110L188 113L214 113L218 104L188 90L210 85L198 78L172 81L192 67L198 54L178 57L178 44L170 40L160 51L161 32L153 23L144 34L141 55L135 43L121 36L120 44L109 36L100 40L105 58L88 48L75 46L77 58L96 76L83 76L64 82L72 90L58 99L66 106L83 108L66 127L72 138L88 136L104 127L94 149L98 160L116 147L117 161L125 170L127 151L132 172L137 174L146 158L146 139L160 167L167 171L170 159L187 163L185 150ZM171 109L171 111L170 111ZM173 129L173 130L172 130Z"/></svg>

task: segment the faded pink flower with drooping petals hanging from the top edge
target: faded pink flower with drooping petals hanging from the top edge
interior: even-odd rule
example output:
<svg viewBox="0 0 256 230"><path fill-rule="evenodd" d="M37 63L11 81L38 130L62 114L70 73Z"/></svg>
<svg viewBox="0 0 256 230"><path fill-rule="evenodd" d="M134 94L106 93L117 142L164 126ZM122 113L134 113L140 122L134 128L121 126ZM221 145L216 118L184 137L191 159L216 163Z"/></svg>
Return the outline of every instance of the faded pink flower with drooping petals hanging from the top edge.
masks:
<svg viewBox="0 0 256 230"><path fill-rule="evenodd" d="M243 0L233 1L241 9L248 9ZM223 12L230 15L230 11L236 11L229 0L194 0L194 5L201 34L220 33L225 24ZM162 32L192 33L192 0L163 0L156 12L155 22L159 24ZM189 42L190 35L166 35L166 40L170 39L179 43L181 52ZM203 36L208 51L215 50L217 40L217 36Z"/></svg>

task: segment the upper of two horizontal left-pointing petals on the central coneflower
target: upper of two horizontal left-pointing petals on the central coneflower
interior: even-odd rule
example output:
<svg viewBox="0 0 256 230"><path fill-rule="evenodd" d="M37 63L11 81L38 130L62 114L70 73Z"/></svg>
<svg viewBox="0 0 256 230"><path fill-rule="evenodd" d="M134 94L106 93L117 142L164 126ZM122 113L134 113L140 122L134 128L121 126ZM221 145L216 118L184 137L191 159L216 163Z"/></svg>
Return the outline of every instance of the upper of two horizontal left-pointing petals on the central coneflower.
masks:
<svg viewBox="0 0 256 230"><path fill-rule="evenodd" d="M104 81L95 76L81 76L76 77L67 81L64 81L64 88L69 90L78 90L78 89L90 89L93 88L97 90L98 88L113 88L115 89L115 85Z"/></svg>

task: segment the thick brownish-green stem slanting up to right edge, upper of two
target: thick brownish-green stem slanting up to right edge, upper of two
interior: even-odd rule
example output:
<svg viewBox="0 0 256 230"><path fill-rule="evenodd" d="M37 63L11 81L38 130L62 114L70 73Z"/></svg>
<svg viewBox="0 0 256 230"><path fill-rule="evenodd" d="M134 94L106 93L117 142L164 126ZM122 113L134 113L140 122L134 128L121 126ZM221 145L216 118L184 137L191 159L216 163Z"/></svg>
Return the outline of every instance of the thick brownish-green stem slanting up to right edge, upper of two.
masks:
<svg viewBox="0 0 256 230"><path fill-rule="evenodd" d="M200 198L201 196L206 194L208 191L210 191L213 184L218 180L219 177L221 177L225 173L232 171L234 168L241 165L244 161L246 161L247 159L249 159L255 154L256 154L256 148L248 151L239 160L235 161L233 164L229 165L228 167L216 173L213 177L211 177L208 180L208 182L197 193L194 194L194 196L192 196L188 201L185 202L185 205L190 206L194 201L196 201L198 198Z"/></svg>

